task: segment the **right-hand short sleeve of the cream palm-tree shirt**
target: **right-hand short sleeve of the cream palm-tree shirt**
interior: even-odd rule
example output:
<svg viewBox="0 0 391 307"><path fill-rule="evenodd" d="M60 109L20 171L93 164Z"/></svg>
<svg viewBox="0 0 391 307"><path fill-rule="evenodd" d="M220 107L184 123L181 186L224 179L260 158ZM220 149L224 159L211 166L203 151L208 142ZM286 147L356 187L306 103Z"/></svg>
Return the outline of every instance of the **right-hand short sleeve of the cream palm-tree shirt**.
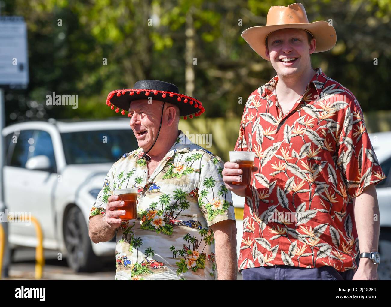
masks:
<svg viewBox="0 0 391 307"><path fill-rule="evenodd" d="M224 162L217 156L202 163L198 204L208 227L223 220L235 220L231 192L224 185L222 170Z"/></svg>

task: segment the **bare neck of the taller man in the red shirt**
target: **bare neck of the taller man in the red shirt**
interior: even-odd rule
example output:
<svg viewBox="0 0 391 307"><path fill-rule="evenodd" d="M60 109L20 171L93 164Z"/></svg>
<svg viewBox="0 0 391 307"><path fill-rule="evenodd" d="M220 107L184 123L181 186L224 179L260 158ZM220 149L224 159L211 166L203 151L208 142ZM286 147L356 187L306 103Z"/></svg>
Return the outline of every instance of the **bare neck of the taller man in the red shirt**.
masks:
<svg viewBox="0 0 391 307"><path fill-rule="evenodd" d="M276 84L276 91L280 93L280 96L289 97L296 95L303 95L308 83L314 77L316 71L309 67L302 75L293 77L280 77L278 76L278 82Z"/></svg>

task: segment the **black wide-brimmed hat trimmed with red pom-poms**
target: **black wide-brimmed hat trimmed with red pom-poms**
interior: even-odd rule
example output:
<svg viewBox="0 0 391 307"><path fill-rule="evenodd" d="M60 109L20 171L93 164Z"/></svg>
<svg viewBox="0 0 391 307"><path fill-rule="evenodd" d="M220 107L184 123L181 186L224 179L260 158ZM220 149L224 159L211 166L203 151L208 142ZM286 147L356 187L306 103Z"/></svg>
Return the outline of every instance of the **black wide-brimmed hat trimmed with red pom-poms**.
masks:
<svg viewBox="0 0 391 307"><path fill-rule="evenodd" d="M115 112L120 112L125 115L128 112L130 103L133 100L149 99L169 102L179 107L180 116L183 119L193 118L205 112L201 101L179 94L179 89L176 85L159 81L159 80L140 80L135 83L132 89L119 89L109 93L106 99L106 105ZM128 117L130 114L127 115Z"/></svg>

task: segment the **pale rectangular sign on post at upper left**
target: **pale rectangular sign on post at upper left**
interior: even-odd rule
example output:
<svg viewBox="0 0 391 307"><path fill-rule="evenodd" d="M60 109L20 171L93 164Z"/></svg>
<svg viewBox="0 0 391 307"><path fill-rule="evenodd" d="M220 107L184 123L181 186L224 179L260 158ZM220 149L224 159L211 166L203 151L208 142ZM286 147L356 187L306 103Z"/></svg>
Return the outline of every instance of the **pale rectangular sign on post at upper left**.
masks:
<svg viewBox="0 0 391 307"><path fill-rule="evenodd" d="M27 86L29 60L23 17L0 16L0 86Z"/></svg>

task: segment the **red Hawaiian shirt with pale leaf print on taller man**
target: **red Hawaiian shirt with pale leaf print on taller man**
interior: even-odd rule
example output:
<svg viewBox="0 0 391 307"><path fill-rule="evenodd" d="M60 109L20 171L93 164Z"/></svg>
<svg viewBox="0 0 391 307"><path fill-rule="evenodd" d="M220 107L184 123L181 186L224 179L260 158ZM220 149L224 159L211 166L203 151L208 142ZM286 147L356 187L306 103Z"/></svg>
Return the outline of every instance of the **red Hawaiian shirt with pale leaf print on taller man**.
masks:
<svg viewBox="0 0 391 307"><path fill-rule="evenodd" d="M254 151L239 270L289 265L356 268L352 199L382 172L357 99L320 68L283 115L275 76L248 98L235 150Z"/></svg>

